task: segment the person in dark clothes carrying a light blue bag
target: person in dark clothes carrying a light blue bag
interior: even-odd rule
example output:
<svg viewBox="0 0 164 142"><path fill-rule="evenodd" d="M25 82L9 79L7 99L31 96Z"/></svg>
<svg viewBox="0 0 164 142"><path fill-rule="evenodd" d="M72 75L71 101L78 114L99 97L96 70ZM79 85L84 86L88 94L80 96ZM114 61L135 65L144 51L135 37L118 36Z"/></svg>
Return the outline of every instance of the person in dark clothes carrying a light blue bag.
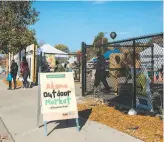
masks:
<svg viewBox="0 0 164 142"><path fill-rule="evenodd" d="M14 82L14 89L16 89L16 77L17 77L17 72L18 72L18 65L17 63L12 60L11 62L11 66L10 66L10 73L11 73L11 76L13 78L13 82ZM12 80L9 81L9 88L8 90L11 90L12 89Z"/></svg>

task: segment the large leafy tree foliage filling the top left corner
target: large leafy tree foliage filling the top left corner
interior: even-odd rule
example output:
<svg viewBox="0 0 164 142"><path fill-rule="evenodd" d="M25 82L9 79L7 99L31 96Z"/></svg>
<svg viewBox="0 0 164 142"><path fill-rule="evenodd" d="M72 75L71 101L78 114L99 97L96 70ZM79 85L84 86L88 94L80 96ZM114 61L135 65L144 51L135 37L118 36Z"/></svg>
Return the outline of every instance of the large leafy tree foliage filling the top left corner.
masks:
<svg viewBox="0 0 164 142"><path fill-rule="evenodd" d="M0 50L16 53L36 44L35 31L28 28L38 20L32 1L0 1Z"/></svg>

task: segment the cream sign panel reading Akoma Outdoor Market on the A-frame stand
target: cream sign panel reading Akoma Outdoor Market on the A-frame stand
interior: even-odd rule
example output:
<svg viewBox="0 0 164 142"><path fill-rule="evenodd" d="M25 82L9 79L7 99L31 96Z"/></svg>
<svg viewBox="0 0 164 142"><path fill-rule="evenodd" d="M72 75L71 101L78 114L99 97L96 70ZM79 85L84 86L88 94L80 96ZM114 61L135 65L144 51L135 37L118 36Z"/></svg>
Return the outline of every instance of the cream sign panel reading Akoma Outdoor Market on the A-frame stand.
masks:
<svg viewBox="0 0 164 142"><path fill-rule="evenodd" d="M78 118L72 72L40 73L44 121Z"/></svg>

